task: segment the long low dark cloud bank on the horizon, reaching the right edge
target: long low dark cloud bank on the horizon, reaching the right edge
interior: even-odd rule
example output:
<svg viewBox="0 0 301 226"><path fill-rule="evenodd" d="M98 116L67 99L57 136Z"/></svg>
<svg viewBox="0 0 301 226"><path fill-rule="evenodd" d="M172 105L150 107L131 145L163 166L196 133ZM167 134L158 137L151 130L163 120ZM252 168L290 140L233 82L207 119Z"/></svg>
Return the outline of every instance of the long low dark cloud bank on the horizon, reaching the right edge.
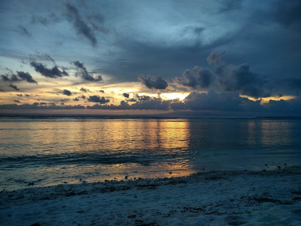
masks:
<svg viewBox="0 0 301 226"><path fill-rule="evenodd" d="M253 112L252 115L269 115L273 113L287 113L296 115L301 113L301 102L288 103L285 100L270 100L267 104L261 104L261 100L250 100L241 97L237 92L221 92L209 90L208 93L190 93L183 101L162 100L158 97L134 94L137 102L129 105L128 101L121 101L120 105L95 104L87 106L87 109L107 110L190 110L190 111L211 111L219 115L222 112ZM98 97L99 98L99 97ZM99 98L100 99L100 98ZM98 100L99 101L99 100ZM96 101L95 101L96 102ZM185 111L186 112L186 111ZM183 115L185 115L183 112ZM216 113L214 113L216 112ZM299 112L299 113L298 113ZM274 115L273 115L274 116Z"/></svg>

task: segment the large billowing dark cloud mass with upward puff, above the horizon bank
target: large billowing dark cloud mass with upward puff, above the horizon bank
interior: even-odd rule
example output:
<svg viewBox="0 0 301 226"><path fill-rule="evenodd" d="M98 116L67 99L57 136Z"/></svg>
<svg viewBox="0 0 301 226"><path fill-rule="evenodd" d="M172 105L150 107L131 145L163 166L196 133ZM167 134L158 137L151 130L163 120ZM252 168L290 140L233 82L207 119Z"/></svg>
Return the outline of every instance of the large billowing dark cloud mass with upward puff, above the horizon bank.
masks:
<svg viewBox="0 0 301 226"><path fill-rule="evenodd" d="M215 68L215 72L209 69L195 66L193 70L187 69L182 78L175 77L174 82L192 88L217 88L223 91L239 92L256 99L272 96L275 82L250 70L250 65L243 63L238 67L226 66L221 61L225 52L212 51L207 62Z"/></svg>

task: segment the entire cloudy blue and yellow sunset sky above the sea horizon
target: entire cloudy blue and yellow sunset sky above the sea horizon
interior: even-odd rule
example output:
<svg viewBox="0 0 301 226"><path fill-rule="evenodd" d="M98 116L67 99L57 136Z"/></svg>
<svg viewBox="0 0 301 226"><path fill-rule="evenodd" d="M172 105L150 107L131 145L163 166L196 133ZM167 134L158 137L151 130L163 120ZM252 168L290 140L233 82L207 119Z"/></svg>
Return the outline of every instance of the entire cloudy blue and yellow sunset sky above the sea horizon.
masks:
<svg viewBox="0 0 301 226"><path fill-rule="evenodd" d="M301 1L1 1L0 113L301 116Z"/></svg>

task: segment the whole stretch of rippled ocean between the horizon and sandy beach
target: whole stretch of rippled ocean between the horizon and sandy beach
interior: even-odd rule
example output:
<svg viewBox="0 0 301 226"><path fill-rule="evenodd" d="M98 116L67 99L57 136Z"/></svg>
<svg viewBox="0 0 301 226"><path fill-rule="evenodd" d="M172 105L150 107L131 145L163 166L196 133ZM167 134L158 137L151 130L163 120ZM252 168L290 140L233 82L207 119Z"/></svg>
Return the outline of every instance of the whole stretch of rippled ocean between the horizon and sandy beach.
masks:
<svg viewBox="0 0 301 226"><path fill-rule="evenodd" d="M299 165L301 118L0 116L0 191Z"/></svg>

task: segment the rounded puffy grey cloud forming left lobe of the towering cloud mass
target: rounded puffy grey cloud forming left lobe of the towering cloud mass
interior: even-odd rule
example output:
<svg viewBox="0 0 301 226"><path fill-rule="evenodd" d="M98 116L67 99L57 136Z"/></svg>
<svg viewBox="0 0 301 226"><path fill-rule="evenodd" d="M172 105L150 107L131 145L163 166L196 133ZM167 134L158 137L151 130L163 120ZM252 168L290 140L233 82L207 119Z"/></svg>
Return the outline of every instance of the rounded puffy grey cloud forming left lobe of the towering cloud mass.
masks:
<svg viewBox="0 0 301 226"><path fill-rule="evenodd" d="M174 81L184 86L207 88L213 82L214 75L209 69L194 66L192 70L185 70L182 78L176 77Z"/></svg>

